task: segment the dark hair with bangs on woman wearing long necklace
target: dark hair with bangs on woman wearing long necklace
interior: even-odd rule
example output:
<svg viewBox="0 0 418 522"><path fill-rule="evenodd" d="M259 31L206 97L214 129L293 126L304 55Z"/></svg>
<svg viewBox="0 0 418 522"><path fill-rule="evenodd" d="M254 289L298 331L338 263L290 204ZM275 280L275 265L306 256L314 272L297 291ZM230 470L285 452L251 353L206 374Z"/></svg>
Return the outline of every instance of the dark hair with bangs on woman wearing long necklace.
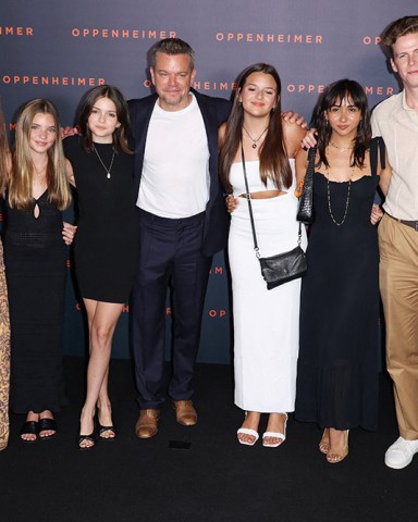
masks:
<svg viewBox="0 0 418 522"><path fill-rule="evenodd" d="M318 130L319 164L323 163L327 167L330 166L325 149L331 139L332 128L325 117L325 113L331 107L341 103L344 99L352 100L353 104L361 112L361 120L353 144L351 165L357 165L362 169L366 151L371 139L370 111L367 104L367 96L361 85L354 79L347 78L339 79L329 85L314 110L312 127L316 127Z"/></svg>

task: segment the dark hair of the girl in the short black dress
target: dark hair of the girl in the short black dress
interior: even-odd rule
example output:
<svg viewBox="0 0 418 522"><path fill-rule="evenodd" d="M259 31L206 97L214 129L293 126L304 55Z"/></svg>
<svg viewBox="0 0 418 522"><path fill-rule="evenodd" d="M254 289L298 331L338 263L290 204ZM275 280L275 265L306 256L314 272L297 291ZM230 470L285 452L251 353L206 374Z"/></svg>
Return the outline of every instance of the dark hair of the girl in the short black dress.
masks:
<svg viewBox="0 0 418 522"><path fill-rule="evenodd" d="M89 90L84 97L79 110L78 126L83 136L83 147L87 152L93 151L91 132L88 128L88 117L91 114L96 100L99 98L109 98L116 108L118 121L121 124L113 132L113 146L116 151L131 153L127 145L127 134L130 128L130 111L122 92L111 85L100 85Z"/></svg>

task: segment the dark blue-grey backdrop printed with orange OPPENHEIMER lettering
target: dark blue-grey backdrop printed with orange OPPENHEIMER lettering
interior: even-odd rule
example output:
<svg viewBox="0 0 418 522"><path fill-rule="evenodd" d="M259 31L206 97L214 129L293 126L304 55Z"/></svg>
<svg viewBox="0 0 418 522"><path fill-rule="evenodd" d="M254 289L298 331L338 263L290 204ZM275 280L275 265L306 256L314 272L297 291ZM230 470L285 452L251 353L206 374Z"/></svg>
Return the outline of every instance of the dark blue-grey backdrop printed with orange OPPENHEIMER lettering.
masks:
<svg viewBox="0 0 418 522"><path fill-rule="evenodd" d="M195 49L194 87L206 95L230 98L238 73L262 61L280 73L283 109L307 121L323 87L343 77L359 82L373 107L399 88L380 35L391 21L416 12L417 0L2 0L0 97L10 138L16 110L32 98L51 99L62 124L73 125L82 96L97 85L115 85L127 99L147 96L148 51L167 37ZM126 304L113 357L131 357L130 313ZM85 353L84 321L69 252L66 353ZM200 362L230 362L231 326L221 253L210 275ZM168 300L168 356L170 328Z"/></svg>

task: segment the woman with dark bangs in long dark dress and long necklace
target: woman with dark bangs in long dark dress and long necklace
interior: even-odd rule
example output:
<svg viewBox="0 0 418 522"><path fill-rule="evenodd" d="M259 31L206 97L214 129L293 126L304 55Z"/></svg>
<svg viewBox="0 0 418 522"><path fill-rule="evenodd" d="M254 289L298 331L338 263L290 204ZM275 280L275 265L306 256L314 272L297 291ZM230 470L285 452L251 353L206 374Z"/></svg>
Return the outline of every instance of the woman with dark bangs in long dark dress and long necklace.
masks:
<svg viewBox="0 0 418 522"><path fill-rule="evenodd" d="M320 425L319 449L337 463L348 455L348 430L378 423L379 251L370 213L378 183L386 183L391 170L370 139L367 97L357 82L325 89L315 126L315 222L302 284L295 417ZM302 150L298 179L306 167Z"/></svg>

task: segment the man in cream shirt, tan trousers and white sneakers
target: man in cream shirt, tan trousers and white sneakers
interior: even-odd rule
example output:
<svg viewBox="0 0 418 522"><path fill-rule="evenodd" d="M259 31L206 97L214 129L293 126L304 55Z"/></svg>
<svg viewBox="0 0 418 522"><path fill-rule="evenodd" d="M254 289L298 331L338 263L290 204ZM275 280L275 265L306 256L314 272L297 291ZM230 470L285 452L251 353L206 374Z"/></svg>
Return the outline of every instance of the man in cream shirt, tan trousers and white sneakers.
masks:
<svg viewBox="0 0 418 522"><path fill-rule="evenodd" d="M418 451L418 16L393 22L383 35L404 90L372 114L392 166L379 226L380 289L386 324L388 371L394 384L399 438L388 449L390 468Z"/></svg>

